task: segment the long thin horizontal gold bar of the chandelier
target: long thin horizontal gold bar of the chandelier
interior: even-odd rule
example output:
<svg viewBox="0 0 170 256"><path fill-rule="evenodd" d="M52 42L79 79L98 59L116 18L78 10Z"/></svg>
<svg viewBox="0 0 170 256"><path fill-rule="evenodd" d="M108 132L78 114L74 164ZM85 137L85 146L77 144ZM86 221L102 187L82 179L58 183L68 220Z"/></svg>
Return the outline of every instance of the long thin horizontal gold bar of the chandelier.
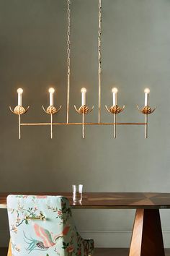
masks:
<svg viewBox="0 0 170 256"><path fill-rule="evenodd" d="M147 123L22 123L22 126L45 126L45 125L146 125Z"/></svg>

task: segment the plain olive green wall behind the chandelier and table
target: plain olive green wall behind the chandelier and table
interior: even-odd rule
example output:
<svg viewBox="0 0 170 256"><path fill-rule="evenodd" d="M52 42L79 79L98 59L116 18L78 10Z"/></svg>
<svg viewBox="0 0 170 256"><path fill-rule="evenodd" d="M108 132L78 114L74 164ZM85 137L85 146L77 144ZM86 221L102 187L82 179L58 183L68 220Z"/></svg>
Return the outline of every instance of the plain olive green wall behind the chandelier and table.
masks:
<svg viewBox="0 0 170 256"><path fill-rule="evenodd" d="M98 1L72 0L71 5L71 121L80 121L73 105L80 105L81 87L97 121ZM56 105L63 105L55 121L66 121L66 24L63 0L0 0L0 192L71 191L84 184L88 192L169 192L170 1L103 0L102 121L112 121L104 105L112 103L111 89L119 88L125 104L119 121L143 121L136 110L151 89L150 103L158 108L149 116L149 138L144 127L23 127L18 140L18 87L30 111L25 122L48 121L48 87L54 85ZM131 210L75 210L84 236L100 247L127 247L133 226ZM170 211L161 211L165 244L170 247ZM0 212L0 245L8 239L6 210ZM121 237L121 239L120 239Z"/></svg>

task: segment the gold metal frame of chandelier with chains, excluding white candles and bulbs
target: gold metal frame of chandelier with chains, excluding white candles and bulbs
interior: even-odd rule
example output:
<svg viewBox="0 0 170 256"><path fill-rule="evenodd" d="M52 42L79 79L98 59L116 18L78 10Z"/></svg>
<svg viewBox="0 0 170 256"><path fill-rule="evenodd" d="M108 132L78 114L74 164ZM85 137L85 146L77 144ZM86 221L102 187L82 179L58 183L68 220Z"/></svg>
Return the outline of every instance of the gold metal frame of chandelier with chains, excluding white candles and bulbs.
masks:
<svg viewBox="0 0 170 256"><path fill-rule="evenodd" d="M19 139L21 138L21 126L50 126L50 137L51 139L53 138L53 125L81 125L82 126L82 137L85 137L85 125L112 125L113 126L113 135L114 138L116 138L116 129L117 125L145 125L146 127L146 137L148 137L148 114L152 114L153 111L155 111L156 107L151 109L150 106L144 106L143 108L138 108L138 110L142 113L145 114L145 122L141 123L135 123L135 122L130 122L130 123L117 123L117 114L120 114L125 106L111 106L110 108L107 108L107 111L111 114L113 114L113 122L110 123L104 123L101 122L101 88L102 88L102 0L99 1L99 13L98 13L98 90L99 90L99 95L98 95L98 122L84 122L85 115L89 114L94 106L92 106L91 109L89 109L88 106L80 106L79 109L74 106L76 109L77 113L82 115L82 122L76 123L76 122L69 122L69 107L70 107L70 84L71 84L71 0L67 0L68 8L67 8L67 107L66 107L66 122L63 123L54 123L53 122L53 115L57 114L58 111L61 110L61 106L57 109L55 106L48 106L47 109L42 106L42 109L45 111L46 114L50 115L50 122L48 123L21 123L21 115L25 114L27 109L24 109L23 106L16 106L14 108L14 111L12 110L11 106L9 106L10 110L12 113L18 115L18 127L19 127Z"/></svg>

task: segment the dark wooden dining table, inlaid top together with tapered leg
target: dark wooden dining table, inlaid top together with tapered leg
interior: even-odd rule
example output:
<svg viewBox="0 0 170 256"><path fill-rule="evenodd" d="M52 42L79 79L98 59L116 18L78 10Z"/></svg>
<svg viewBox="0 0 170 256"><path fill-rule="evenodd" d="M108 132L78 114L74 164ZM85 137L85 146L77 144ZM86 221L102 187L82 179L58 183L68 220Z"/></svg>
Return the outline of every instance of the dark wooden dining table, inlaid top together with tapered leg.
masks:
<svg viewBox="0 0 170 256"><path fill-rule="evenodd" d="M159 209L170 208L170 193L84 193L81 205L75 205L66 192L0 193L0 208L6 197L18 195L64 195L75 209L136 209L129 256L165 256Z"/></svg>

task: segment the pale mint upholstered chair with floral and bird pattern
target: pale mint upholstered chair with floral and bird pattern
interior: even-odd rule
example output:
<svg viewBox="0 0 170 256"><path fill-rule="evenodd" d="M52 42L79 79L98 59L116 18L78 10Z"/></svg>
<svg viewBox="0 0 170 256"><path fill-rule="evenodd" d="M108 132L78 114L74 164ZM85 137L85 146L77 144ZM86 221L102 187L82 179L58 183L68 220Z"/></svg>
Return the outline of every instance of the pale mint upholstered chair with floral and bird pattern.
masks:
<svg viewBox="0 0 170 256"><path fill-rule="evenodd" d="M88 256L94 241L82 239L63 196L7 197L12 256Z"/></svg>

